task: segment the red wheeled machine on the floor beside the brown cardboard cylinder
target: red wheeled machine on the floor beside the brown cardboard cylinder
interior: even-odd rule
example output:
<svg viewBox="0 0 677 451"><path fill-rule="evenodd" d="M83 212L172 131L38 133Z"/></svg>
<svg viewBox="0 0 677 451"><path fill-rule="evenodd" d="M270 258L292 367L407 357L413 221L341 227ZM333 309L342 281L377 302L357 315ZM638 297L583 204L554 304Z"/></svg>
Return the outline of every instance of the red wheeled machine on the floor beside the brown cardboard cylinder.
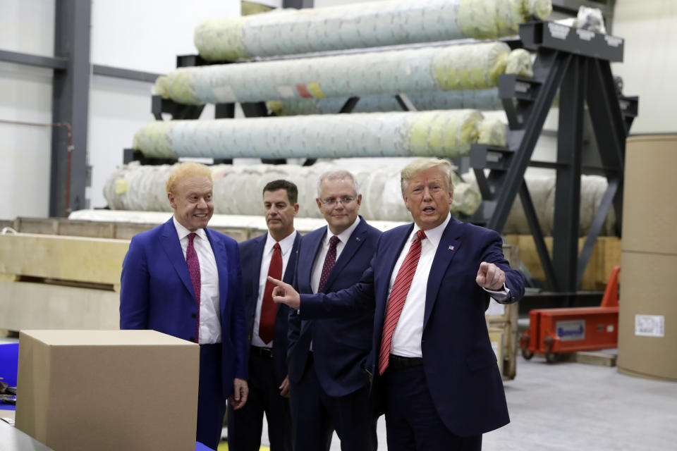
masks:
<svg viewBox="0 0 677 451"><path fill-rule="evenodd" d="M545 354L547 362L558 354L602 350L618 346L618 273L611 271L599 307L534 309L529 312L529 328L522 333L520 348L525 359Z"/></svg>

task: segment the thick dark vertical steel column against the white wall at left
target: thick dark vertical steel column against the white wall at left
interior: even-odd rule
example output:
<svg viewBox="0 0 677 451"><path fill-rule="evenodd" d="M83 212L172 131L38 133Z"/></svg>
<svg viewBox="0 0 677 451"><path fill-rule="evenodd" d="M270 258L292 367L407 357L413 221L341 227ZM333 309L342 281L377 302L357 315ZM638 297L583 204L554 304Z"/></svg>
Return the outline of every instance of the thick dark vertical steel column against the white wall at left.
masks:
<svg viewBox="0 0 677 451"><path fill-rule="evenodd" d="M51 137L49 215L65 216L68 210L87 208L85 187L90 184L87 166L87 104L90 92L90 1L57 0L54 55L67 58L66 70L54 71L52 120L71 124L73 152L62 127Z"/></svg>

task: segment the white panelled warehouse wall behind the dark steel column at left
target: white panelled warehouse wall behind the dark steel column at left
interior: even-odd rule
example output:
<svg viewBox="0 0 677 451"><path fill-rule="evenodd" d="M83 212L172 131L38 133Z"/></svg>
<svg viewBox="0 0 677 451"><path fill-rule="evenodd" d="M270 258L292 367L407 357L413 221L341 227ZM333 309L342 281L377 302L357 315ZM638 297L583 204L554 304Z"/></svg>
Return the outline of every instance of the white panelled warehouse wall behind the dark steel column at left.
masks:
<svg viewBox="0 0 677 451"><path fill-rule="evenodd" d="M195 53L201 20L239 15L239 0L92 1L92 64L166 73L177 54ZM0 49L54 56L54 0L0 1ZM51 122L51 70L0 63L0 119ZM105 206L102 187L134 132L148 121L151 83L93 75L87 152L91 206ZM205 117L214 109L205 109ZM80 152L82 149L75 149ZM0 218L47 216L51 130L0 123Z"/></svg>

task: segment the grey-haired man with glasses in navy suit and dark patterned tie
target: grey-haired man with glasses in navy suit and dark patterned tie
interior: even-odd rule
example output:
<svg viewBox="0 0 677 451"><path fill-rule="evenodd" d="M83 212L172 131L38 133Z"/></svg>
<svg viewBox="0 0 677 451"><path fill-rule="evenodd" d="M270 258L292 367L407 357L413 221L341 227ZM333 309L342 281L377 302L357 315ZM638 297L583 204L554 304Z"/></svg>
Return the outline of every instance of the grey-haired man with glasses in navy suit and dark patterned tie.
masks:
<svg viewBox="0 0 677 451"><path fill-rule="evenodd" d="M327 221L298 248L294 285L300 292L332 292L360 280L381 233L358 216L362 194L348 171L324 173L317 206ZM373 310L336 319L289 317L289 380L296 451L322 451L335 429L343 451L376 449L365 361Z"/></svg>

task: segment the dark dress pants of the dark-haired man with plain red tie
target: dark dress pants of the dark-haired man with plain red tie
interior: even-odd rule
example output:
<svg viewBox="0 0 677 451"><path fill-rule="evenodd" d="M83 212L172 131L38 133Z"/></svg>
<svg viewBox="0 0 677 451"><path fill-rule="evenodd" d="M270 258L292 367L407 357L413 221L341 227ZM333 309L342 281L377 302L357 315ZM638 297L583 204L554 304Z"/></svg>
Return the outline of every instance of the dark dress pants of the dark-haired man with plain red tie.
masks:
<svg viewBox="0 0 677 451"><path fill-rule="evenodd" d="M272 356L250 354L248 383L247 403L238 410L228 405L228 450L258 451L265 413L270 450L291 451L289 400L280 395Z"/></svg>

